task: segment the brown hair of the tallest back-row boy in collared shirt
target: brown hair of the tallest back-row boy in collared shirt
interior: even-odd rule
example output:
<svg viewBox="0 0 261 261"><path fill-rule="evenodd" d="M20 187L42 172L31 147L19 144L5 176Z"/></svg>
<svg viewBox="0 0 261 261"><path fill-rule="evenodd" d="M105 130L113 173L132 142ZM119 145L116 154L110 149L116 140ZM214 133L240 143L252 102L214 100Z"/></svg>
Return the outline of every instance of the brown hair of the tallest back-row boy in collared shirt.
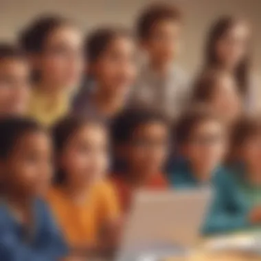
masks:
<svg viewBox="0 0 261 261"><path fill-rule="evenodd" d="M181 11L179 8L168 3L150 5L139 16L137 21L137 36L142 40L150 37L150 32L155 24L166 19L181 21Z"/></svg>

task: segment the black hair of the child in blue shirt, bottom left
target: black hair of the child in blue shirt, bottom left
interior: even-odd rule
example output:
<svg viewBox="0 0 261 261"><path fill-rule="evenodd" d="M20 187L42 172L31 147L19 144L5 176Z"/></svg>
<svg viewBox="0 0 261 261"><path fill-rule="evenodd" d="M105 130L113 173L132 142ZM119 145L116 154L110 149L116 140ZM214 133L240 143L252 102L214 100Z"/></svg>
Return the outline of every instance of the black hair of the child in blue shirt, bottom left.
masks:
<svg viewBox="0 0 261 261"><path fill-rule="evenodd" d="M6 159L16 142L27 133L45 131L34 120L22 117L5 117L0 120L0 159Z"/></svg>

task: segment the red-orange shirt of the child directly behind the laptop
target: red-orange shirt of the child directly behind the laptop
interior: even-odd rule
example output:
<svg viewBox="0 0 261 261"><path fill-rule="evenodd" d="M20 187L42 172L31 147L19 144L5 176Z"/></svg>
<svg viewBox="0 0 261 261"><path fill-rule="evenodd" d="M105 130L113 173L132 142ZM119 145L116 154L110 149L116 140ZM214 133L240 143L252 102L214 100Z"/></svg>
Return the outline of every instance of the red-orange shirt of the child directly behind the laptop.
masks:
<svg viewBox="0 0 261 261"><path fill-rule="evenodd" d="M120 175L113 175L111 181L117 192L122 212L128 212L131 207L133 188L131 188L131 185ZM165 190L168 188L168 181L163 174L156 174L148 180L148 183L144 185L144 188L149 190Z"/></svg>

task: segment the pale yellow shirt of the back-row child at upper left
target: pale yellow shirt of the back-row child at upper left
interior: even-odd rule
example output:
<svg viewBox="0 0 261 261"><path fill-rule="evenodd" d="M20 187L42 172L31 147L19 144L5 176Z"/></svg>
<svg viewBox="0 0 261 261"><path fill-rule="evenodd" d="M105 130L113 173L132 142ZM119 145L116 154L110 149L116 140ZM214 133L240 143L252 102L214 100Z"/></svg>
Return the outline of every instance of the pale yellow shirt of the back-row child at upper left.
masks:
<svg viewBox="0 0 261 261"><path fill-rule="evenodd" d="M49 127L69 112L69 105L68 93L63 93L57 98L56 102L52 102L49 95L34 89L31 94L27 115Z"/></svg>

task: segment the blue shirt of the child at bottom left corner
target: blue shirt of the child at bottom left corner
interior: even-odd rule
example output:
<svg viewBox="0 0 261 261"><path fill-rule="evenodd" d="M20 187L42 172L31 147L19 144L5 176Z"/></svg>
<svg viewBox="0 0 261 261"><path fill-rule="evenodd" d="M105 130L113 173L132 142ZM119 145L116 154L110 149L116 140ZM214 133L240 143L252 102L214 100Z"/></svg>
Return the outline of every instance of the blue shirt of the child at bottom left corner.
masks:
<svg viewBox="0 0 261 261"><path fill-rule="evenodd" d="M67 246L40 199L32 205L34 229L30 238L4 202L0 203L0 259L3 261L57 261L67 256Z"/></svg>

